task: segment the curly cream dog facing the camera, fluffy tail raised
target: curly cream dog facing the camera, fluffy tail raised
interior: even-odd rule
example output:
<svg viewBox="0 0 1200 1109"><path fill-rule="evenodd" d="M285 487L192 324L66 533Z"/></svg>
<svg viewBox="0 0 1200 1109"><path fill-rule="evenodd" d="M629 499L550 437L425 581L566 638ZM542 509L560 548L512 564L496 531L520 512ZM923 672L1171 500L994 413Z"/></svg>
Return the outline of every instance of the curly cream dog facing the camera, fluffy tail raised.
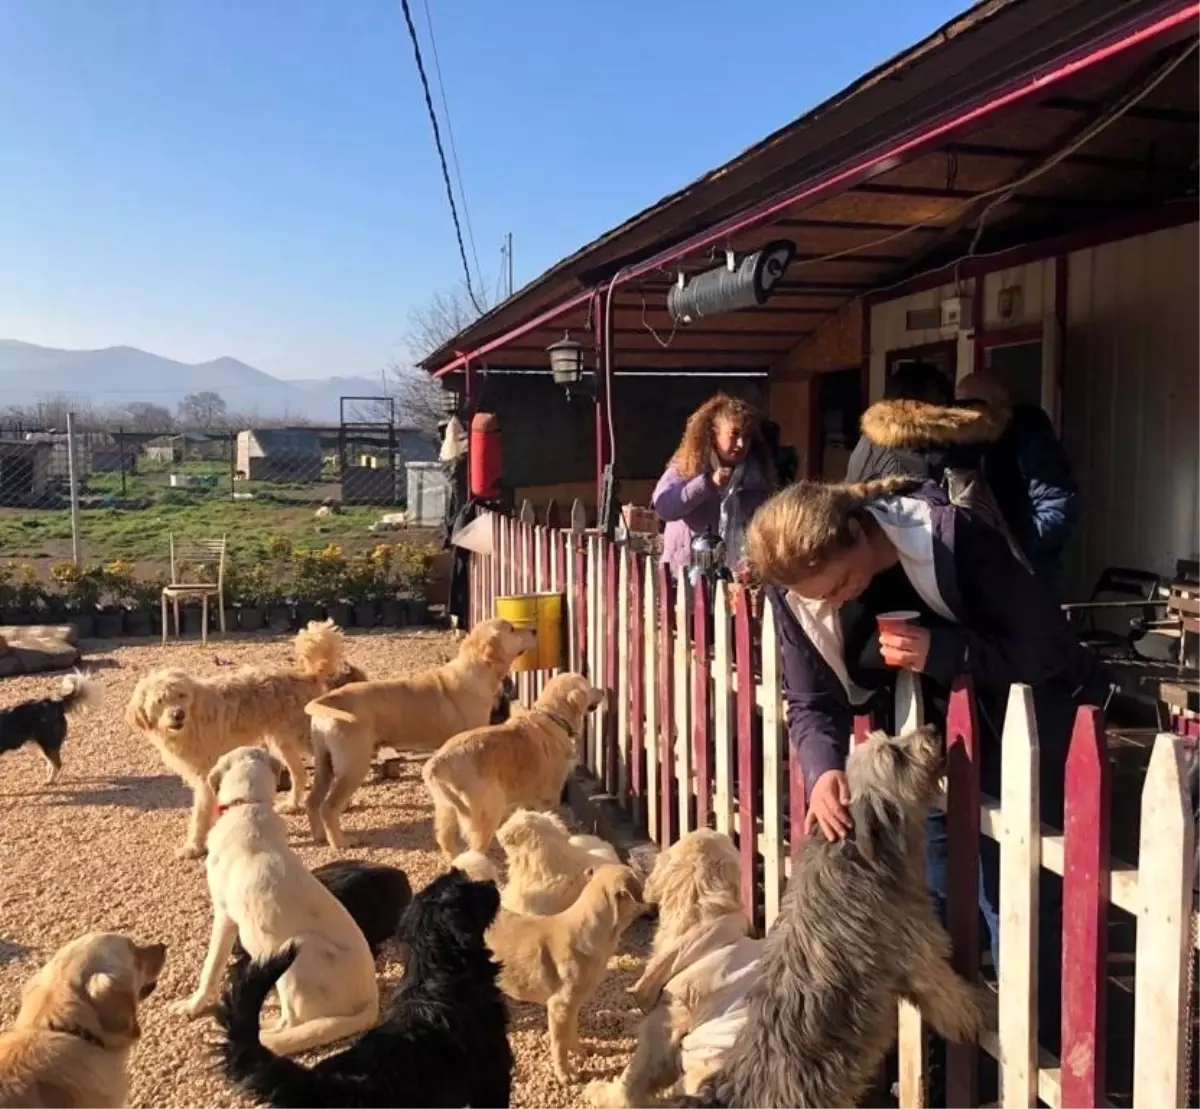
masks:
<svg viewBox="0 0 1200 1109"><path fill-rule="evenodd" d="M296 636L295 666L270 670L246 666L220 677L196 677L182 670L155 670L133 688L125 719L158 749L168 769L192 789L187 839L178 853L200 858L215 815L209 772L235 748L262 743L276 750L290 778L288 811L302 809L308 773L308 718L314 696L362 672L343 659L341 629L332 621L312 621Z"/></svg>

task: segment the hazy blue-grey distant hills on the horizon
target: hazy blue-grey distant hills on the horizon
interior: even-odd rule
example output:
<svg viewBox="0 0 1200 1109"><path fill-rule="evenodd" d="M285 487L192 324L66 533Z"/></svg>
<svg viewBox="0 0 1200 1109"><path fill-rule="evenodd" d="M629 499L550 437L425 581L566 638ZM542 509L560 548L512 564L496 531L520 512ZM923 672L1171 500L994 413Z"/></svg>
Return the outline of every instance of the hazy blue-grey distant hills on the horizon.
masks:
<svg viewBox="0 0 1200 1109"><path fill-rule="evenodd" d="M187 394L209 390L230 412L336 424L340 397L377 396L380 389L377 377L281 380L228 356L192 364L136 347L55 350L0 338L0 409L66 396L95 408L144 401L174 412Z"/></svg>

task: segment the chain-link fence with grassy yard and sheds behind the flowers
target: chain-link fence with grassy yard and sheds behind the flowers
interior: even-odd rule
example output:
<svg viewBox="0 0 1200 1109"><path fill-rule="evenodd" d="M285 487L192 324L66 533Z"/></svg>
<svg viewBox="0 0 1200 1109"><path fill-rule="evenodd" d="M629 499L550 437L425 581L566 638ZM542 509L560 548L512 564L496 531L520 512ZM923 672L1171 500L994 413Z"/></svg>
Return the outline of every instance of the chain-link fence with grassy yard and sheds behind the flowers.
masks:
<svg viewBox="0 0 1200 1109"><path fill-rule="evenodd" d="M264 567L286 576L284 551L349 563L380 542L428 546L440 524L440 499L428 496L443 481L436 460L436 442L394 426L0 426L0 587L53 589L115 565L149 594L169 577L173 538L224 536L232 586L257 576L259 593ZM410 487L424 509L415 518ZM270 588L295 592L282 580ZM338 588L326 583L330 597Z"/></svg>

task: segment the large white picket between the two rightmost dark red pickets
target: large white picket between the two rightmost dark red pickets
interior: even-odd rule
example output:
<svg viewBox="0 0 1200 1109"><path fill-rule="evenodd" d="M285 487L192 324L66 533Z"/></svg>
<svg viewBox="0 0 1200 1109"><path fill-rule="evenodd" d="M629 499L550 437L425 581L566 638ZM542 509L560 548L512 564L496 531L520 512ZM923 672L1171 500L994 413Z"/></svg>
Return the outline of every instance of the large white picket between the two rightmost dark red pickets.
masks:
<svg viewBox="0 0 1200 1109"><path fill-rule="evenodd" d="M1038 1104L1038 879L1042 805L1033 690L1013 685L1004 714L1000 827L1000 1057L1003 1109Z"/></svg>

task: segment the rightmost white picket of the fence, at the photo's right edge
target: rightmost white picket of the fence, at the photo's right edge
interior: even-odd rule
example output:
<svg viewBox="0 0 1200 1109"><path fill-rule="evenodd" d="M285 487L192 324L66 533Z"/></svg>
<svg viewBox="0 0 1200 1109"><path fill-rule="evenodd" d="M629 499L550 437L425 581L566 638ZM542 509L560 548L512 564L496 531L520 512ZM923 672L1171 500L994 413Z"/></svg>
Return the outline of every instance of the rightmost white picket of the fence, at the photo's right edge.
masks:
<svg viewBox="0 0 1200 1109"><path fill-rule="evenodd" d="M1194 841L1183 741L1160 735L1141 791L1133 1109L1188 1101Z"/></svg>

